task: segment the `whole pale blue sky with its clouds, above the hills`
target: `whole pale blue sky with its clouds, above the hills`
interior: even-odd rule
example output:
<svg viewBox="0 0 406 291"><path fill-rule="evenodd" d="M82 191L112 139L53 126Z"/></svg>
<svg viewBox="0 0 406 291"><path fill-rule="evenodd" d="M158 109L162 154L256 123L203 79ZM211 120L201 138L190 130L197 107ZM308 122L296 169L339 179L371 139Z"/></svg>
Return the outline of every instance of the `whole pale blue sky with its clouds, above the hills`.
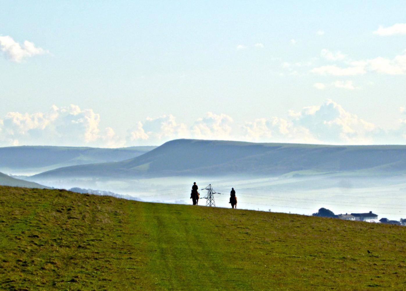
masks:
<svg viewBox="0 0 406 291"><path fill-rule="evenodd" d="M406 144L404 1L0 0L0 146Z"/></svg>

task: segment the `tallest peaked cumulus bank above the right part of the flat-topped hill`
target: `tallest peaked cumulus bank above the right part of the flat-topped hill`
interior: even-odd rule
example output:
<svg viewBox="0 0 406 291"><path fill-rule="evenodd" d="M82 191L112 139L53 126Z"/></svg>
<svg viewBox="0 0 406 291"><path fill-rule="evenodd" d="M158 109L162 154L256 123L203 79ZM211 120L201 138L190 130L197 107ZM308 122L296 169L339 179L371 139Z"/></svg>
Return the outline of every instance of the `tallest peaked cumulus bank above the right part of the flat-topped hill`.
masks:
<svg viewBox="0 0 406 291"><path fill-rule="evenodd" d="M243 132L246 140L324 144L371 144L395 135L346 111L330 99L321 106L289 110L286 119L274 116L246 122Z"/></svg>

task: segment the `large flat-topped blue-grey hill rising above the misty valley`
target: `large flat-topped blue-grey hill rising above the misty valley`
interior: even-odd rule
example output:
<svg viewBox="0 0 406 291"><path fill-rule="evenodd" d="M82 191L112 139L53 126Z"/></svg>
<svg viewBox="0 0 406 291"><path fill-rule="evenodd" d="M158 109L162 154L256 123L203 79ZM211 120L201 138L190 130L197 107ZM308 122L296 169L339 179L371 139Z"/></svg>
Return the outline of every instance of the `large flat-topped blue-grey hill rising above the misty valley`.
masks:
<svg viewBox="0 0 406 291"><path fill-rule="evenodd" d="M406 172L406 146L333 146L172 140L130 160L59 168L35 175L58 177L169 177Z"/></svg>

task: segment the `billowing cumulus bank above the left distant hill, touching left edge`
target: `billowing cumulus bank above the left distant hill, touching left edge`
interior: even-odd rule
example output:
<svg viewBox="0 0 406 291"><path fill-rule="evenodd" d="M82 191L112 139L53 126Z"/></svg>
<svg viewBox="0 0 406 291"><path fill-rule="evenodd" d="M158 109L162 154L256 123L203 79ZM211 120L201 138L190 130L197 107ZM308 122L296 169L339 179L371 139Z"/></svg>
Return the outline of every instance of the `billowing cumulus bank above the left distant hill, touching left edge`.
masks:
<svg viewBox="0 0 406 291"><path fill-rule="evenodd" d="M100 116L77 105L48 112L9 112L0 123L0 142L4 145L123 145L112 128L99 129Z"/></svg>

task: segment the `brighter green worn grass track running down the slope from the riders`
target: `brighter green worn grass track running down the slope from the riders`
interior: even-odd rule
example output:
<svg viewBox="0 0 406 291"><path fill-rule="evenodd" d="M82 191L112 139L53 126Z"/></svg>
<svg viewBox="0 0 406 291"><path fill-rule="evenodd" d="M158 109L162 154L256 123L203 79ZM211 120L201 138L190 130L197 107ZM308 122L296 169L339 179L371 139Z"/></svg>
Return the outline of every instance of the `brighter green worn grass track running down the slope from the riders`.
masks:
<svg viewBox="0 0 406 291"><path fill-rule="evenodd" d="M138 206L138 205L137 205ZM141 226L135 235L145 254L145 276L159 290L243 289L225 262L231 253L221 246L211 224L196 216L197 209L148 204L130 209L130 221ZM182 211L181 211L182 210Z"/></svg>

